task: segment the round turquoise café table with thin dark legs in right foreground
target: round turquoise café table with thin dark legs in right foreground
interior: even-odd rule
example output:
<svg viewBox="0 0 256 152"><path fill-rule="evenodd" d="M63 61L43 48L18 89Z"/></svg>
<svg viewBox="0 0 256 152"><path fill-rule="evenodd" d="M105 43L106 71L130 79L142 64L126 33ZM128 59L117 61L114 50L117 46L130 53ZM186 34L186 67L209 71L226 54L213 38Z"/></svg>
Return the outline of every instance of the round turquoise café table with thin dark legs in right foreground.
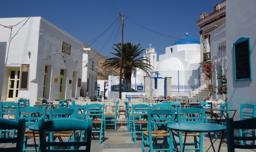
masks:
<svg viewBox="0 0 256 152"><path fill-rule="evenodd" d="M222 144L224 130L226 130L226 126L224 126L224 125L201 123L201 122L182 122L182 123L168 124L167 128L169 128L171 130L171 132L173 130L174 131L185 132L185 138L184 138L182 152L184 152L184 148L185 148L185 144L186 144L186 136L187 136L188 132L207 132L208 135L209 135L209 138L210 138L210 142L212 144L213 151L215 152L215 149L214 149L214 146L213 146L213 143L212 143L212 139L210 137L210 132L222 131L222 136L221 136L221 139L220 139L220 145L219 145L219 148L218 148L218 152L220 152L220 146ZM170 134L170 137L171 136L173 136L174 143L176 143L173 132L172 132L172 134ZM202 137L200 136L200 138L203 138L203 136Z"/></svg>

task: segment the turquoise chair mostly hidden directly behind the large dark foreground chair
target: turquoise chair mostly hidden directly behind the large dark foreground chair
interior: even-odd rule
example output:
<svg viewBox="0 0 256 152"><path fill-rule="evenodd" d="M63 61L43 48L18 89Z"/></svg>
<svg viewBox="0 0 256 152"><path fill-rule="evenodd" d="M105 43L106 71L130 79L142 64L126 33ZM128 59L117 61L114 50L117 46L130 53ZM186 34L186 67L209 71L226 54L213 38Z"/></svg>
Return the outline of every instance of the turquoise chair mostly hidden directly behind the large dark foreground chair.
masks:
<svg viewBox="0 0 256 152"><path fill-rule="evenodd" d="M49 108L49 120L58 120L58 119L78 119L78 108L71 109L71 108L56 108L52 109ZM66 124L60 124L60 126L64 126ZM50 141L55 141L56 138L58 138L60 141L62 141L61 137L68 137L68 141L72 142L76 140L79 140L78 132L74 131L67 131L67 132L54 132L50 134ZM50 147L50 149L54 149ZM73 150L74 147L72 146L71 149Z"/></svg>

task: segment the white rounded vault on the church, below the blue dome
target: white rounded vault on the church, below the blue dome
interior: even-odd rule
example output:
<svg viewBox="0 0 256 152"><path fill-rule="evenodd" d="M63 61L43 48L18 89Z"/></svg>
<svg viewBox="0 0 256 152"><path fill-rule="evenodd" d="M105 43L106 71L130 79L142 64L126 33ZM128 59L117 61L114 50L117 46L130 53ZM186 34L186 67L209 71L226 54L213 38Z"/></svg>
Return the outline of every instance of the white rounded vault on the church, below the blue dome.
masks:
<svg viewBox="0 0 256 152"><path fill-rule="evenodd" d="M178 58L167 58L159 62L156 70L184 70L182 62Z"/></svg>

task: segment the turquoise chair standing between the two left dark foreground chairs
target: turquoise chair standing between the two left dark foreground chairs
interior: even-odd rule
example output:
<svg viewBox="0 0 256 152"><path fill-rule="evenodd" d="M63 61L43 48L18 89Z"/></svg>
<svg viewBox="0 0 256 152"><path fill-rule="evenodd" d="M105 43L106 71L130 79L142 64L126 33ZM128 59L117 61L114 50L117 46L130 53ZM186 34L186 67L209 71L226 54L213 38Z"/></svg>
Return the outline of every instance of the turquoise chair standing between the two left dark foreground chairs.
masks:
<svg viewBox="0 0 256 152"><path fill-rule="evenodd" d="M24 115L24 113L26 115ZM17 107L16 110L17 118L24 118L26 120L25 126L28 127L30 125L38 124L38 119L46 118L46 107L38 108L38 107ZM47 134L49 136L49 134ZM30 149L28 147L35 147L35 144L28 144L28 138L30 137L39 137L39 132L34 132L31 130L24 132L24 140L23 140L23 151L36 151L36 149ZM40 142L38 147L40 146ZM39 150L39 149L37 149Z"/></svg>

